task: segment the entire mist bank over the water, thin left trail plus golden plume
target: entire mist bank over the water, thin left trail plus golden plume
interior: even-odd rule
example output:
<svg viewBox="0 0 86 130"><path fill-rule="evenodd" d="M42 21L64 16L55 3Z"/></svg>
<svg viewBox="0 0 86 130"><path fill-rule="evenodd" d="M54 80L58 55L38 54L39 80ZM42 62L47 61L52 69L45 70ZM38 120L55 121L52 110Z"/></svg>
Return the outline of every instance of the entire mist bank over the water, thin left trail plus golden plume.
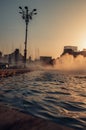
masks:
<svg viewBox="0 0 86 130"><path fill-rule="evenodd" d="M66 54L55 60L54 65L43 64L40 61L32 62L27 65L32 70L60 70L60 71L78 71L86 72L86 57L78 55L73 57L72 55Z"/></svg>

